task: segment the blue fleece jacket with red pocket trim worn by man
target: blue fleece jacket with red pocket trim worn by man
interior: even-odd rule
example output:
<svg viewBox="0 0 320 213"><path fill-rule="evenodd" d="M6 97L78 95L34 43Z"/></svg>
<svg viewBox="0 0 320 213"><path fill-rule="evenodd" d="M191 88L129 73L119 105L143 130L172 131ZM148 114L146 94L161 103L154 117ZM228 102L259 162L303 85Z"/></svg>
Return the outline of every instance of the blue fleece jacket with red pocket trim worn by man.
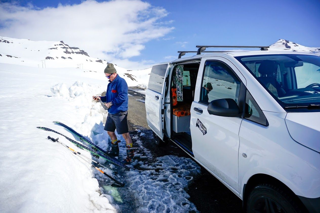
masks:
<svg viewBox="0 0 320 213"><path fill-rule="evenodd" d="M110 114L125 112L128 110L128 85L118 74L116 78L109 80L106 96L101 97L101 101L112 102L111 108L108 110Z"/></svg>

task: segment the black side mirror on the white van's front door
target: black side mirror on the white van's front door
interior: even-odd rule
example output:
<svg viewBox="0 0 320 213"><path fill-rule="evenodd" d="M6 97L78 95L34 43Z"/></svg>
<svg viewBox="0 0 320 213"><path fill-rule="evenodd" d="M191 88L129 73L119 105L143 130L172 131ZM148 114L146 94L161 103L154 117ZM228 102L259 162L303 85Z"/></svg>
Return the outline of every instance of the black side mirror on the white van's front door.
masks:
<svg viewBox="0 0 320 213"><path fill-rule="evenodd" d="M210 115L237 117L240 109L235 100L231 98L217 99L209 103L208 112Z"/></svg>

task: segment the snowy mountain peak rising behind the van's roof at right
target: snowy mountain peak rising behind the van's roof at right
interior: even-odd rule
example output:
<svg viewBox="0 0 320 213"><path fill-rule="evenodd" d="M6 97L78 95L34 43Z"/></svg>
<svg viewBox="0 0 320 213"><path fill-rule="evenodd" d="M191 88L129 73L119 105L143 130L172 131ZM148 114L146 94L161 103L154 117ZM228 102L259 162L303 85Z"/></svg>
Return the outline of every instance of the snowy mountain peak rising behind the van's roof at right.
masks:
<svg viewBox="0 0 320 213"><path fill-rule="evenodd" d="M271 44L269 50L287 50L287 51L298 51L298 52L308 52L308 53L318 53L320 52L319 47L305 47L295 42L290 42L288 40L279 39L276 43Z"/></svg>

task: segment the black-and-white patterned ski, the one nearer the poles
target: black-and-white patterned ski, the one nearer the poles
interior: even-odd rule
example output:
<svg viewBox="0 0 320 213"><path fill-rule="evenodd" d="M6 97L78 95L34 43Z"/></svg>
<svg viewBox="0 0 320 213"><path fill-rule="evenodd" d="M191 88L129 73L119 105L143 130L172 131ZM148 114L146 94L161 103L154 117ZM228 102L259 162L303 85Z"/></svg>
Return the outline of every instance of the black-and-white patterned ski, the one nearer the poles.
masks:
<svg viewBox="0 0 320 213"><path fill-rule="evenodd" d="M127 169L127 170L130 170L129 167L127 167L126 165L124 165L123 163L121 163L118 159L116 159L116 158L114 158L114 157L112 157L112 156L106 156L105 154L103 154L103 153L101 153L101 152L97 152L97 151L95 151L95 150L93 150L93 149L91 149L91 148L89 148L89 147L86 147L86 146L84 146L83 144L78 143L77 141L74 141L74 140L72 140L71 138L68 138L67 136L65 136L65 135L63 135L63 134L61 134L61 133L59 133L59 132L56 132L56 131L54 131L54 130L52 130L52 129L49 129L49 128L46 128L46 127L42 127L42 126L37 126L37 128L43 129L43 130L45 130L45 131L49 131L49 132L54 132L54 133L60 134L60 135L62 135L63 137L65 137L68 141L70 141L71 143L74 143L77 147L86 149L86 150L88 150L89 152L91 152L94 157L98 157L98 158L99 158L99 156L100 156L100 157L106 159L107 161L110 161L111 163L114 163L114 164L116 164L116 165L118 165L118 166L121 166L121 167Z"/></svg>

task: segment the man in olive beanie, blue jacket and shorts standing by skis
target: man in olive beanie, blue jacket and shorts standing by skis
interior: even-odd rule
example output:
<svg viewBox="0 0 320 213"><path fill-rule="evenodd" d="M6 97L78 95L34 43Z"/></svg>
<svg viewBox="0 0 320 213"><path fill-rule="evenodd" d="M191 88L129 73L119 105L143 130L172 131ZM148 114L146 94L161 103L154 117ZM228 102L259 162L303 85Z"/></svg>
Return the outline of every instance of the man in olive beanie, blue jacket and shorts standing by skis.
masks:
<svg viewBox="0 0 320 213"><path fill-rule="evenodd" d="M113 64L108 64L104 73L109 79L107 86L106 96L92 96L94 100L101 99L106 102L108 109L108 117L104 130L108 132L111 138L111 152L110 154L117 157L119 156L118 139L115 134L122 134L126 142L127 157L122 163L130 164L133 161L132 140L128 130L127 115L128 115L128 85L123 78L121 78L114 68Z"/></svg>

